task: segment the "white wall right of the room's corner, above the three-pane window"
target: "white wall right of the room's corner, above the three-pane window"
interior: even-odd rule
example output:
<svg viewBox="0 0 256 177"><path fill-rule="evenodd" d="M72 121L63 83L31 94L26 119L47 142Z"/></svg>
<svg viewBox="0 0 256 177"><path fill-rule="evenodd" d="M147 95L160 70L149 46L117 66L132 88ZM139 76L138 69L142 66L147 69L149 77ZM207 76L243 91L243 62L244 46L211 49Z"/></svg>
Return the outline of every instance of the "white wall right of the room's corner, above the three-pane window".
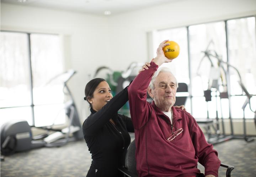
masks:
<svg viewBox="0 0 256 177"><path fill-rule="evenodd" d="M146 32L191 24L256 15L255 0L179 0L144 10L113 16L111 60L116 67L128 61L149 61ZM122 44L122 45L120 45Z"/></svg>

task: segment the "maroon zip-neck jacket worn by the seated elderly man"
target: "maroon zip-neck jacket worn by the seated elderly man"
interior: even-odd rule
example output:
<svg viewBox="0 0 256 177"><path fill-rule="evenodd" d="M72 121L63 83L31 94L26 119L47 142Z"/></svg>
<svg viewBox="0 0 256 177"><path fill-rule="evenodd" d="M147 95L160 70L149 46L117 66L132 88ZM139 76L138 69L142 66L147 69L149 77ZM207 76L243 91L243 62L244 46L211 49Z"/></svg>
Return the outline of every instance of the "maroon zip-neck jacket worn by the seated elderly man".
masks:
<svg viewBox="0 0 256 177"><path fill-rule="evenodd" d="M139 176L196 176L200 173L198 161L205 167L205 175L218 176L218 154L191 114L172 107L173 131L182 128L183 132L167 141L172 131L170 119L154 101L146 101L146 89L157 68L151 62L149 69L138 74L128 87Z"/></svg>

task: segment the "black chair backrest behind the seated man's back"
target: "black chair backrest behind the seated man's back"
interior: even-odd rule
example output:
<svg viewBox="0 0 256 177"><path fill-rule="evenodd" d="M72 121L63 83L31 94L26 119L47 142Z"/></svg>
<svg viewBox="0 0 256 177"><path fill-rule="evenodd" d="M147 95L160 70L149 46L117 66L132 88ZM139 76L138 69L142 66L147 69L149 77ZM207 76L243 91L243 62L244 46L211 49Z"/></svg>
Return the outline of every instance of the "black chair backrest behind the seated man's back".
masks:
<svg viewBox="0 0 256 177"><path fill-rule="evenodd" d="M132 172L134 175L138 175L136 170L136 159L135 159L135 139L130 143L127 153L126 153L126 160L125 165L128 171Z"/></svg>

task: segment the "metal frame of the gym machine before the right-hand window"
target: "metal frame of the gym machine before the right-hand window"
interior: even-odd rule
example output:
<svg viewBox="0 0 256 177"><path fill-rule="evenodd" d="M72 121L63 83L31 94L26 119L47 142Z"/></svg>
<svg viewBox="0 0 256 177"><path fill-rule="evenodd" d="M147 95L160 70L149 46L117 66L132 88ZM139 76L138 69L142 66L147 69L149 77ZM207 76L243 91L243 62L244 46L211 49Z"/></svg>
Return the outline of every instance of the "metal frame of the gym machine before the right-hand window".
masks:
<svg viewBox="0 0 256 177"><path fill-rule="evenodd" d="M209 45L212 43L212 41L210 41ZM219 89L218 87L220 85L218 85L218 80L215 80L215 87L212 87L212 85L210 86L209 84L209 87L208 87L208 96L207 96L207 91L204 91L204 96L206 97L206 101L207 101L207 120L210 120L209 119L209 114L208 114L208 101L210 101L209 99L209 96L211 97L211 88L215 88L216 91L215 91L215 98L216 98L216 128L214 127L213 125L213 121L204 121L204 123L206 124L206 127L207 127L207 134L208 134L208 142L209 143L212 143L212 144L217 144L217 143L220 143L220 142L224 142L224 141L227 141L229 139L233 139L233 138L242 138L242 139L245 139L246 142L251 142L254 140L254 138L252 138L251 136L247 136L246 135L246 122L245 122L245 107L247 106L247 104L249 104L249 107L250 107L250 110L252 112L254 112L254 122L255 122L255 126L256 126L256 110L252 110L251 108L251 102L250 102L250 99L252 97L252 95L247 91L247 89L245 88L244 84L242 83L242 79L241 79L241 75L238 71L237 68L235 68L233 65L230 65L228 62L224 62L222 60L222 58L217 54L216 51L211 51L211 50L208 50L208 47L209 45L207 46L207 49L206 51L203 51L204 52L204 56L203 58L201 59L201 62L198 66L198 69L200 68L200 65L203 61L203 59L205 57L207 57L211 63L211 67L214 67L213 65L213 61L210 57L214 57L218 60L218 68L219 69L222 69L224 74L225 74L225 79L226 79L226 85L223 85L223 86L226 86L226 92L219 92ZM214 54L212 54L214 53ZM224 65L226 65L227 67L227 70L225 70L225 67ZM243 128L244 128L244 135L243 136L238 136L238 135L234 135L234 130L233 130L233 118L231 117L231 101L230 101L230 97L231 97L231 94L230 94L230 82L229 82L229 68L233 68L236 73L238 74L238 77L239 77L239 85L241 86L241 89L242 91L245 93L245 95L242 95L242 96L247 96L243 106L242 106L242 110L243 110ZM197 71L198 71L197 69ZM210 80L209 80L210 82ZM214 80L213 80L214 82ZM214 85L214 83L213 83ZM228 98L228 101L229 101L229 120L230 120L230 130L231 130L231 135L226 135L225 134L225 126L224 126L224 121L223 121L223 115L222 115L222 131L223 131L223 134L220 135L220 130L219 130L219 117L218 117L218 108L217 108L217 92L219 92L219 97L220 97L220 109L221 109L221 113L222 113L222 105L221 105L221 99L222 98ZM208 97L208 98L207 98ZM210 122L210 123L209 123ZM200 123L200 121L199 121ZM210 133L210 125L212 125L213 129L215 130L216 134L215 136L212 136L212 134ZM213 140L212 140L213 139Z"/></svg>

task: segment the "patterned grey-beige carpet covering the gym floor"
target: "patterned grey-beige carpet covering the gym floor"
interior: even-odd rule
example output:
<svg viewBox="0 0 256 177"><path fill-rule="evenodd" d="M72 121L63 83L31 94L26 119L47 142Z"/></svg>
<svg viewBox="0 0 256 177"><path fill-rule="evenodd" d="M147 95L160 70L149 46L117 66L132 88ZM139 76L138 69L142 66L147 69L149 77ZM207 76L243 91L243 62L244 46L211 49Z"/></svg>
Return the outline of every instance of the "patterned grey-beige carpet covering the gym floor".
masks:
<svg viewBox="0 0 256 177"><path fill-rule="evenodd" d="M233 177L256 176L256 140L243 139L216 144L220 160L234 165ZM91 164L91 155L84 140L70 142L63 147L38 148L28 152L5 156L1 161L1 177L79 177L86 176ZM199 165L201 171L203 166ZM225 176L223 167L219 176Z"/></svg>

